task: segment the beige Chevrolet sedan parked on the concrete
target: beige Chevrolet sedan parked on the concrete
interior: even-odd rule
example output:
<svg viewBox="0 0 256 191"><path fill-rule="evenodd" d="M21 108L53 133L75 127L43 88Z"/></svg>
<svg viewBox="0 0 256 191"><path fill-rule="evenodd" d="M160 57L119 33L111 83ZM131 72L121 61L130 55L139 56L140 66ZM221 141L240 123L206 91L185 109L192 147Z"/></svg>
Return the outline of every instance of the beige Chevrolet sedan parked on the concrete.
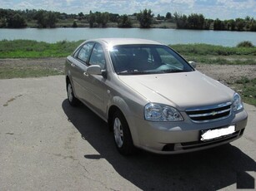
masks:
<svg viewBox="0 0 256 191"><path fill-rule="evenodd" d="M89 40L67 57L68 101L108 122L121 154L178 154L240 138L248 118L240 96L194 67L158 42Z"/></svg>

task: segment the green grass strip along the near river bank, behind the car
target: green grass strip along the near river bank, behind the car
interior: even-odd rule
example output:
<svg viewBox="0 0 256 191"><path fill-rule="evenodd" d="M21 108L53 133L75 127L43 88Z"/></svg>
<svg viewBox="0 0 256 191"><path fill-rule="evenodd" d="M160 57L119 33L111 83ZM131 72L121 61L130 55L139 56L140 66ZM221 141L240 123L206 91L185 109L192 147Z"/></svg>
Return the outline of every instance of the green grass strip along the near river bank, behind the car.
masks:
<svg viewBox="0 0 256 191"><path fill-rule="evenodd" d="M0 58L65 57L82 42L47 43L30 40L3 40L0 41ZM202 63L248 64L249 62L249 64L256 64L253 57L256 56L256 47L222 47L208 44L178 44L170 47L188 60ZM228 56L237 56L237 59L229 59Z"/></svg>

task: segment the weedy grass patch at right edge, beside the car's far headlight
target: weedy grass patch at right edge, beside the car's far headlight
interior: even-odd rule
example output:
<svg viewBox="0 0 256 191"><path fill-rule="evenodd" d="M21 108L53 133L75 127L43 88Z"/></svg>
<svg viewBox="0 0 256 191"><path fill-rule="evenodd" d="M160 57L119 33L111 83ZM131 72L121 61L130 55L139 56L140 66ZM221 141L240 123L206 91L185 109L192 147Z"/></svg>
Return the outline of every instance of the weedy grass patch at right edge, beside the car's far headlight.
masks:
<svg viewBox="0 0 256 191"><path fill-rule="evenodd" d="M247 77L235 81L234 89L242 96L244 102L256 106L256 78L250 80Z"/></svg>

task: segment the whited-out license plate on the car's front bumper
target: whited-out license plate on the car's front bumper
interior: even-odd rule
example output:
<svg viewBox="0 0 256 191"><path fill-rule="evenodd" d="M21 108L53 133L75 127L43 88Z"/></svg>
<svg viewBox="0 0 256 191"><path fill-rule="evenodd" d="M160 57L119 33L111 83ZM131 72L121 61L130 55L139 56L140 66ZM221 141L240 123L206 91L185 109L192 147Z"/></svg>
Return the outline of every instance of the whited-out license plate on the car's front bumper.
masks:
<svg viewBox="0 0 256 191"><path fill-rule="evenodd" d="M225 128L216 129L216 130L201 130L201 139L202 141L215 140L223 136L231 135L235 132L235 126L230 125Z"/></svg>

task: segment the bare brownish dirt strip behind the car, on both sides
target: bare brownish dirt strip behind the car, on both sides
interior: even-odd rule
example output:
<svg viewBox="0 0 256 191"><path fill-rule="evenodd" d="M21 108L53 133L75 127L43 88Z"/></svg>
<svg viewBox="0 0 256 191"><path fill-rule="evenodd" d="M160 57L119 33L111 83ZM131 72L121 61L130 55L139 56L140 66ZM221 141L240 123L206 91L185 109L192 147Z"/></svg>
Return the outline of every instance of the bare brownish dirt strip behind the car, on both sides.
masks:
<svg viewBox="0 0 256 191"><path fill-rule="evenodd" d="M0 67L18 66L21 69L24 66L53 68L63 71L65 58L40 58L40 59L0 59ZM225 84L233 83L246 76L249 79L256 78L255 65L206 65L198 64L197 70L213 77L215 80L223 81Z"/></svg>

